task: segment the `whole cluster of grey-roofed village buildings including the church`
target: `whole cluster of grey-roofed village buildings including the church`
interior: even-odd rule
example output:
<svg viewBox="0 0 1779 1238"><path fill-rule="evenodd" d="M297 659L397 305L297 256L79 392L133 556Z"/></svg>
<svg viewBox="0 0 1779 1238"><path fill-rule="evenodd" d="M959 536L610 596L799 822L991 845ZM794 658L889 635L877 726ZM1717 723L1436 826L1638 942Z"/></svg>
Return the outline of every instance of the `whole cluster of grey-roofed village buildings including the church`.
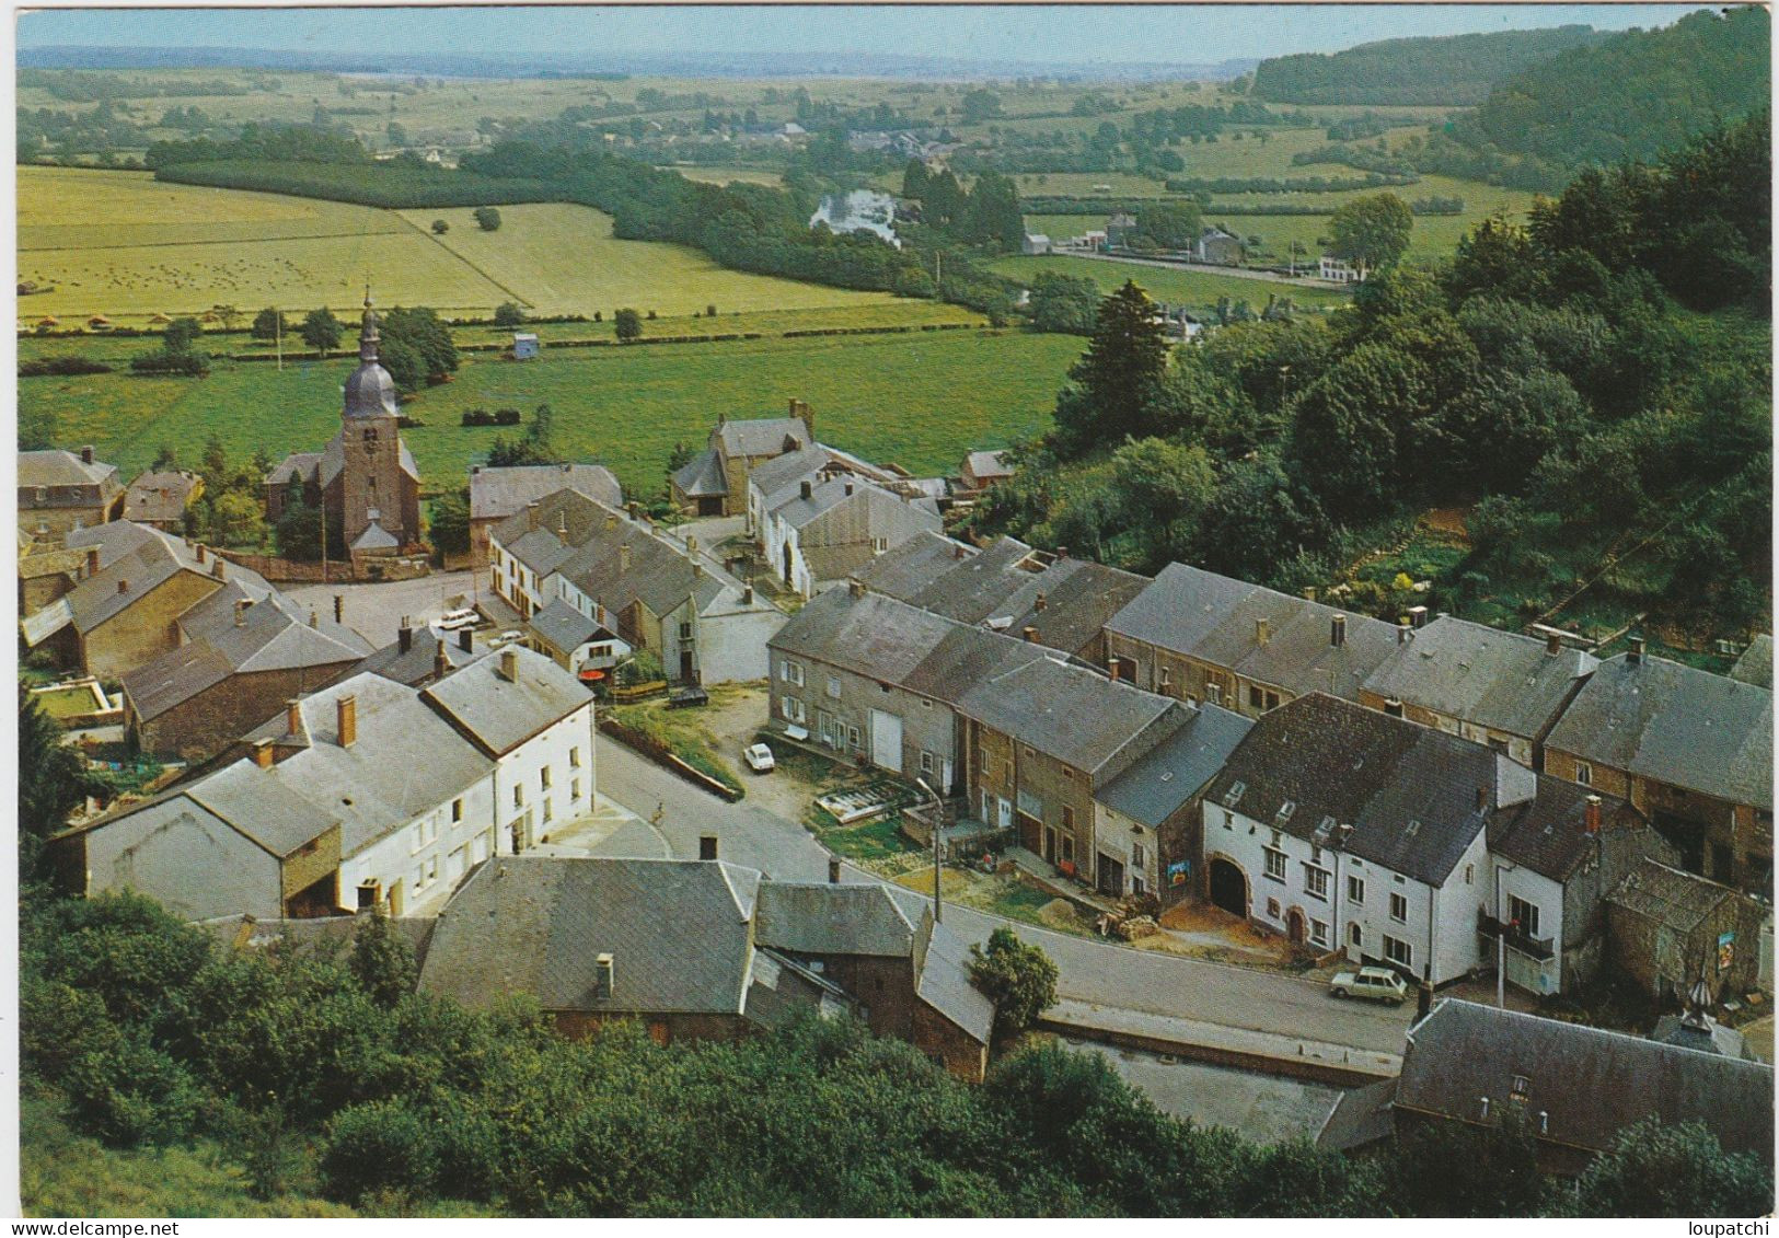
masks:
<svg viewBox="0 0 1779 1238"><path fill-rule="evenodd" d="M1115 249L1124 226L1026 247ZM1194 260L1240 240L1206 229ZM422 989L530 994L566 1035L729 1039L815 1010L982 1078L994 1007L938 875L776 872L726 825L671 854L564 843L678 811L608 802L616 703L765 685L769 758L868 772L934 864L1018 870L1099 918L1062 961L1069 1035L1363 1083L1309 1131L1336 1147L1507 1108L1557 1172L1647 1112L1770 1147L1772 1067L1736 1032L1774 993L1770 637L1719 676L1635 633L1601 656L1557 628L1377 619L1341 589L977 544L955 516L1016 455L914 477L824 443L795 398L717 413L671 521L592 462L471 470L461 567L486 589L384 614L432 567L377 347L366 301L340 430L265 477L269 519L301 500L343 541L318 573L187 539L194 473L126 486L93 448L20 454L21 642L64 676L37 692L71 744L165 763L52 840L69 891L146 893L238 948L381 912ZM1131 945L1192 916L1334 968L1331 1009L1373 985L1414 1023L1377 1023L1391 1048L1354 1065L1364 1046L1288 1003L1270 1041L1156 1007L1135 968L1156 952ZM1089 973L1092 1001L1071 993ZM1608 975L1662 1017L1537 1012Z"/></svg>

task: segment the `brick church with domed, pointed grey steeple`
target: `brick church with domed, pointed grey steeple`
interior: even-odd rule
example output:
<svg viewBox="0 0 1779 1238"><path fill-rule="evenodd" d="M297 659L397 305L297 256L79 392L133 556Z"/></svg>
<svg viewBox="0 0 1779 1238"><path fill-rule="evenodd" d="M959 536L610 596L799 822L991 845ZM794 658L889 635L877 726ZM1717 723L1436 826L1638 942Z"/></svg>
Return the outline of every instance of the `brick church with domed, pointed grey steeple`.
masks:
<svg viewBox="0 0 1779 1238"><path fill-rule="evenodd" d="M420 544L420 470L402 443L395 381L377 363L377 315L365 293L358 368L345 381L340 432L320 452L292 452L265 475L265 519L301 493L326 514L329 553L356 562Z"/></svg>

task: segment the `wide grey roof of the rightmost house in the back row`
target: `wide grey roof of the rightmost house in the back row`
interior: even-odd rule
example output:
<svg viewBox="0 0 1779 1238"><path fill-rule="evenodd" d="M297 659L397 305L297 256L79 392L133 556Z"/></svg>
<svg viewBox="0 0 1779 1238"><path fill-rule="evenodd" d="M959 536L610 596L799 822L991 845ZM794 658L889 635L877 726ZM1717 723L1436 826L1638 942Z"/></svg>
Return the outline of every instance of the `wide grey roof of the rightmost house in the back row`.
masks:
<svg viewBox="0 0 1779 1238"><path fill-rule="evenodd" d="M1667 658L1599 663L1546 747L1733 804L1774 806L1774 694Z"/></svg>

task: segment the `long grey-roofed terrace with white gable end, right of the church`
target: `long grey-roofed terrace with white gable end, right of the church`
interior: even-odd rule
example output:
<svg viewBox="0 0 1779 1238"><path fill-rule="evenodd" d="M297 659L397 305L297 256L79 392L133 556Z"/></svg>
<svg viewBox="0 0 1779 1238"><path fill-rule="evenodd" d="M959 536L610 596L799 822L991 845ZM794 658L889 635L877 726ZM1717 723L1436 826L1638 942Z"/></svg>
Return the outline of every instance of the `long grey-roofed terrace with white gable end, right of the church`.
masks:
<svg viewBox="0 0 1779 1238"><path fill-rule="evenodd" d="M644 519L566 489L489 534L495 594L519 621L564 599L669 679L731 683L767 676L767 640L785 614L703 553Z"/></svg>

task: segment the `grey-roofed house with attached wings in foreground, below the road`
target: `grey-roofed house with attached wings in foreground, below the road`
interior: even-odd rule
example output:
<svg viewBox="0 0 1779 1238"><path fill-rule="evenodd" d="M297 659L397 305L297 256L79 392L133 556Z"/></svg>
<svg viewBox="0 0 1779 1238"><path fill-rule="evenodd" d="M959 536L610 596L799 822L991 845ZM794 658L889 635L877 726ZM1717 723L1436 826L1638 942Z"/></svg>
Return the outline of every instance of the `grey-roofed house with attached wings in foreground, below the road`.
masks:
<svg viewBox="0 0 1779 1238"><path fill-rule="evenodd" d="M523 856L463 884L420 987L471 1007L528 994L571 1037L637 1019L660 1044L733 1041L802 1012L859 1017L980 1080L994 1007L968 961L877 884L783 884L719 859Z"/></svg>

